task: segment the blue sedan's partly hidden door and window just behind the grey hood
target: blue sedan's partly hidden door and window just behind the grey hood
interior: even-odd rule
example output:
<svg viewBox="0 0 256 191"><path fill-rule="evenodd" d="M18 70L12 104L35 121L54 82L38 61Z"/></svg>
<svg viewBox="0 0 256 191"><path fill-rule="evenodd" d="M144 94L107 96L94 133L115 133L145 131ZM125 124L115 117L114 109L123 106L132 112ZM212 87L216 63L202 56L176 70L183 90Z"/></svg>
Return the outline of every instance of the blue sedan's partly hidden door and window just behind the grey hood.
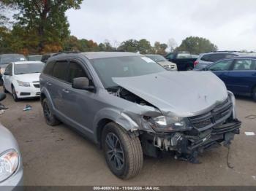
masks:
<svg viewBox="0 0 256 191"><path fill-rule="evenodd" d="M214 74L217 75L217 77L222 79L222 81L227 86L227 89L229 89L228 85L230 82L228 79L228 74L230 72L230 68L232 64L233 64L233 59L223 60L223 61L219 61L217 63L211 64L211 66L209 66L207 69L209 71L212 71Z"/></svg>

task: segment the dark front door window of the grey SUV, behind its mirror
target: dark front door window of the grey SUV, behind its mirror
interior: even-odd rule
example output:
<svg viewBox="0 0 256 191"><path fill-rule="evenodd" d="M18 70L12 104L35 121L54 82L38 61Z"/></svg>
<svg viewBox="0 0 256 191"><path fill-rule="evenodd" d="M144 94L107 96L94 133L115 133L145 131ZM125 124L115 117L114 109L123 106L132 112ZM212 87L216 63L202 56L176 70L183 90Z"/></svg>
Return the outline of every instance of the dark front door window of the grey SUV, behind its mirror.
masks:
<svg viewBox="0 0 256 191"><path fill-rule="evenodd" d="M74 78L77 77L87 77L86 72L84 71L83 67L80 64L75 62L69 63L69 71L67 75L67 82L72 83Z"/></svg>

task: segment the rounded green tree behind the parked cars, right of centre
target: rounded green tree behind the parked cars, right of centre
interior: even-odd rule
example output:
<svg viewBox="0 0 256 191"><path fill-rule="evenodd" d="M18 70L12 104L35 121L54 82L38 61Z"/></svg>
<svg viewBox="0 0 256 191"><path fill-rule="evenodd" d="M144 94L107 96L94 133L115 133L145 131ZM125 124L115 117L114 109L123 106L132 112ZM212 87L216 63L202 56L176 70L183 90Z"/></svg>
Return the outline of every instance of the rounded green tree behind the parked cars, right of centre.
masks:
<svg viewBox="0 0 256 191"><path fill-rule="evenodd" d="M181 42L181 45L175 51L189 51L191 54L200 54L202 52L211 52L218 50L218 47L208 39L189 36Z"/></svg>

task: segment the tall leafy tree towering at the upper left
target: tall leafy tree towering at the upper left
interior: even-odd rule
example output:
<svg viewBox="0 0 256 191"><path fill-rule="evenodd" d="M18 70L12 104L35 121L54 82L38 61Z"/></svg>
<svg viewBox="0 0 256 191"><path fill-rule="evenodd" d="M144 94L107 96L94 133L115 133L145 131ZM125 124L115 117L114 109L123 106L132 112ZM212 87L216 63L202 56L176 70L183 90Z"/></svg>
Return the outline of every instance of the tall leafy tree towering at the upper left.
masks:
<svg viewBox="0 0 256 191"><path fill-rule="evenodd" d="M27 34L35 34L38 40L34 47L43 52L44 47L62 47L69 36L67 9L79 9L83 0L4 0L6 6L18 8L15 14L15 27L23 28Z"/></svg>

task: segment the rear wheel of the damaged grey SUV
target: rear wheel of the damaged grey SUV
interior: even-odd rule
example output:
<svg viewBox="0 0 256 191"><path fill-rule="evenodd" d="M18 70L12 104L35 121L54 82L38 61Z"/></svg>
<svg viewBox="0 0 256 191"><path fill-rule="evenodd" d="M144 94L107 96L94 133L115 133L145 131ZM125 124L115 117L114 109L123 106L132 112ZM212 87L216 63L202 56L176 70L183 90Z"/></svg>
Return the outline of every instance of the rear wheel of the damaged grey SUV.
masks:
<svg viewBox="0 0 256 191"><path fill-rule="evenodd" d="M42 110L45 116L45 122L50 126L59 125L61 122L54 116L53 112L50 109L47 98L44 98L42 101Z"/></svg>

